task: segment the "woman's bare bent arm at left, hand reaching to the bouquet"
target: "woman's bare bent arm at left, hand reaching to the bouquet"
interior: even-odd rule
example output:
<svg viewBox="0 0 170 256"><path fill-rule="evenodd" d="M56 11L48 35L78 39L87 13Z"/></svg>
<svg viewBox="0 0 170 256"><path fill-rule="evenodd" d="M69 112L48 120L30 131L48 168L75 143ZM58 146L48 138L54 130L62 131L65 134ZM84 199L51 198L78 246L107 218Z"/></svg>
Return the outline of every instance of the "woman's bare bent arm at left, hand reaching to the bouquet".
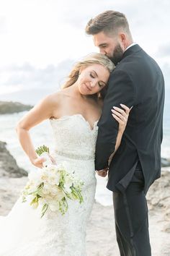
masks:
<svg viewBox="0 0 170 256"><path fill-rule="evenodd" d="M54 109L57 108L56 96L48 95L34 108L32 108L17 124L17 135L19 142L22 145L24 152L30 158L30 161L35 166L42 168L42 162L45 161L43 158L38 158L34 145L30 137L29 130L40 124L45 119L49 119L53 116Z"/></svg>

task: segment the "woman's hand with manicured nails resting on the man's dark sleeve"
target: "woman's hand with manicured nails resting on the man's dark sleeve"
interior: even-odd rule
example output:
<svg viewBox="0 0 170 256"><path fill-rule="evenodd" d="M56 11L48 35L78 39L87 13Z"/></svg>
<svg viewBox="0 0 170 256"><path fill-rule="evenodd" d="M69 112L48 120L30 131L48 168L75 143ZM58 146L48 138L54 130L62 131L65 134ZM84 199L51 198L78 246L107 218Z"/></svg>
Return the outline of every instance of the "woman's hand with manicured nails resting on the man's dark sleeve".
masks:
<svg viewBox="0 0 170 256"><path fill-rule="evenodd" d="M130 110L133 107L128 108L128 106L125 106L124 104L120 104L120 106L122 108L124 108L125 111L122 110L122 108L117 108L115 106L111 109L111 111L112 111L112 116L119 123L119 131L123 133L125 131L125 127L126 127L126 124L127 124L127 121L128 121Z"/></svg>

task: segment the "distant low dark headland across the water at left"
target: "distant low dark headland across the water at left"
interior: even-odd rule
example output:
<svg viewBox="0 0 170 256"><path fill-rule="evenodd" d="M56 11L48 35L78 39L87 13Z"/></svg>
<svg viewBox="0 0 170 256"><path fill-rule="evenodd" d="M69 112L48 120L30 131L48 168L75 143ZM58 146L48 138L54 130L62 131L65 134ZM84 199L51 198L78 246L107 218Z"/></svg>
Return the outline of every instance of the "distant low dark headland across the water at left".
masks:
<svg viewBox="0 0 170 256"><path fill-rule="evenodd" d="M12 101L0 101L0 114L12 114L15 112L27 111L30 110L32 106L24 105L19 102Z"/></svg>

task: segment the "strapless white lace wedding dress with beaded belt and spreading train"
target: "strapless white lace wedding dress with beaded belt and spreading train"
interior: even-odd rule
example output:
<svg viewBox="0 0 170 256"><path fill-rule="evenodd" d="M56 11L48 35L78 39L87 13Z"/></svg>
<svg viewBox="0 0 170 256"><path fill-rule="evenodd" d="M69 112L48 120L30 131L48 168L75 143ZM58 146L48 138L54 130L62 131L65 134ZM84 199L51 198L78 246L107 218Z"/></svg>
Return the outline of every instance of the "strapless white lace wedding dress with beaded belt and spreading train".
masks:
<svg viewBox="0 0 170 256"><path fill-rule="evenodd" d="M69 200L68 212L40 218L19 198L6 217L0 218L0 256L85 256L86 223L94 203L96 178L94 153L97 121L90 127L81 114L50 119L55 139L57 163L66 161L67 169L84 181L84 202Z"/></svg>

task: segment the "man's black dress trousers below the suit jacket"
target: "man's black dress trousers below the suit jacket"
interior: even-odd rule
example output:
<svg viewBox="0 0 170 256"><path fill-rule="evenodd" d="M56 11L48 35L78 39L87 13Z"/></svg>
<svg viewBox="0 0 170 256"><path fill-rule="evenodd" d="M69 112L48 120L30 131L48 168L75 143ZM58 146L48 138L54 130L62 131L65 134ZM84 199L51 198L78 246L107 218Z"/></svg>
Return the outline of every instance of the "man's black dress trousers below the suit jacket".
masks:
<svg viewBox="0 0 170 256"><path fill-rule="evenodd" d="M136 168L125 192L113 192L115 229L121 256L151 256L143 183L143 172Z"/></svg>

